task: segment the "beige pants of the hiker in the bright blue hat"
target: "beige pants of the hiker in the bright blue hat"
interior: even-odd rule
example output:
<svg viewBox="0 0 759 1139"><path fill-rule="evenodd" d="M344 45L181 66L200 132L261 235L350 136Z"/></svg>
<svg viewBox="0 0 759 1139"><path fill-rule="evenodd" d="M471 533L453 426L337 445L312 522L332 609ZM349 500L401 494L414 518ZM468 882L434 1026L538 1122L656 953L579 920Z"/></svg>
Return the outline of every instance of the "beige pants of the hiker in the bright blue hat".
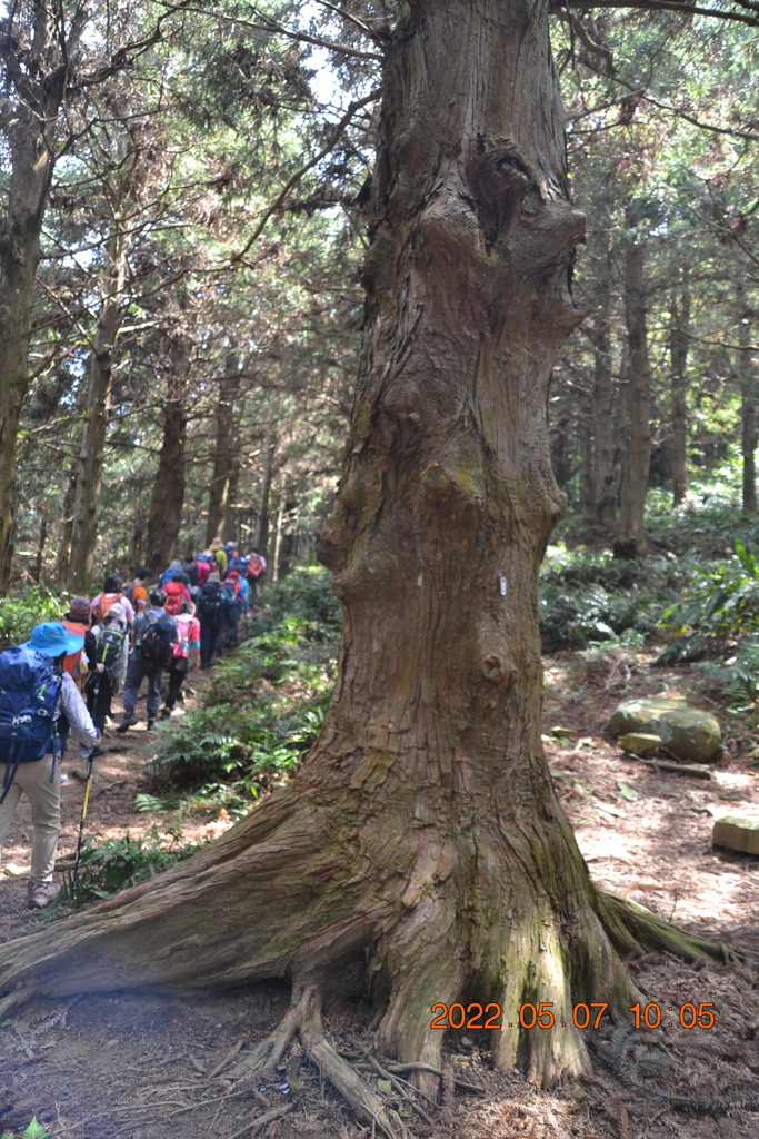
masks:
<svg viewBox="0 0 759 1139"><path fill-rule="evenodd" d="M32 882L52 882L56 862L56 846L60 833L60 764L56 763L56 775L50 782L49 755L35 763L19 763L16 777L8 788L6 801L0 805L0 855L22 792L32 806ZM0 787L5 776L5 763L0 763ZM0 790L0 795L2 790Z"/></svg>

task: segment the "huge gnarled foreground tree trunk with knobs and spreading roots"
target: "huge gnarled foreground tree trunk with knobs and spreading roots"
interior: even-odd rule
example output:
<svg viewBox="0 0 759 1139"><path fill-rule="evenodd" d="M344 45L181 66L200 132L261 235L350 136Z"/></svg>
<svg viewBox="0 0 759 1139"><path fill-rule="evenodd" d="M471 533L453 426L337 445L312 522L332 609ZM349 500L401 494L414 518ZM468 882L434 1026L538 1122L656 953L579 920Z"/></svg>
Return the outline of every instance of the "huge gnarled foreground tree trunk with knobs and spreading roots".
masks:
<svg viewBox="0 0 759 1139"><path fill-rule="evenodd" d="M51 997L287 976L297 1031L389 1131L321 1032L369 991L378 1043L439 1060L435 1002L502 1006L497 1067L588 1064L572 1003L640 999L617 949L719 952L599 892L541 744L537 566L563 509L546 393L578 322L546 5L418 0L387 46L364 267L366 335L320 551L345 633L324 730L294 784L195 859L0 948L0 1016ZM520 1030L526 1001L555 1024Z"/></svg>

